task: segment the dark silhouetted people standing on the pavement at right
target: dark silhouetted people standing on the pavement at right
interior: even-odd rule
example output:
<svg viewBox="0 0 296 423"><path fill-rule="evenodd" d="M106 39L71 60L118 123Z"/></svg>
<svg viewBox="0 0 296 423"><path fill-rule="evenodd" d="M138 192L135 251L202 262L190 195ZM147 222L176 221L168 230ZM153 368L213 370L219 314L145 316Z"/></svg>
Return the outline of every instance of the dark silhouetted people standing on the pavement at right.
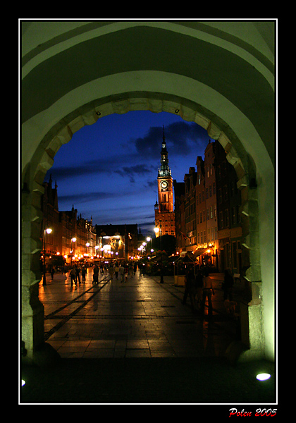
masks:
<svg viewBox="0 0 296 423"><path fill-rule="evenodd" d="M222 284L223 288L223 300L229 297L232 300L232 288L233 288L233 276L226 270L224 272L224 281ZM208 311L209 316L213 314L213 305L211 302L211 296L214 295L214 288L212 285L211 278L209 277L208 269L204 269L204 272L198 270L195 274L195 269L190 266L185 274L185 291L182 304L186 304L187 296L190 297L190 304L192 312L202 312L204 314L204 305L206 298L208 300Z"/></svg>

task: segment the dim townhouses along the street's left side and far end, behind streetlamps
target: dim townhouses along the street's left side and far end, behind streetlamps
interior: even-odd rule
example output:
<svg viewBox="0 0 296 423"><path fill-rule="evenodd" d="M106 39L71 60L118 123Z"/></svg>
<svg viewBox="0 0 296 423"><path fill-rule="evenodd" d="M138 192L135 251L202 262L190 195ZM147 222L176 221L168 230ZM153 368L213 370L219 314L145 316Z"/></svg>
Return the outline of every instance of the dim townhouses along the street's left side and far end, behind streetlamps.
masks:
<svg viewBox="0 0 296 423"><path fill-rule="evenodd" d="M93 226L78 210L58 210L58 186L44 182L42 196L43 222L40 228L42 255L40 264L47 269L54 262L70 264L84 258L131 259L137 255L137 224ZM47 233L47 228L51 229ZM57 260L57 257L61 259Z"/></svg>

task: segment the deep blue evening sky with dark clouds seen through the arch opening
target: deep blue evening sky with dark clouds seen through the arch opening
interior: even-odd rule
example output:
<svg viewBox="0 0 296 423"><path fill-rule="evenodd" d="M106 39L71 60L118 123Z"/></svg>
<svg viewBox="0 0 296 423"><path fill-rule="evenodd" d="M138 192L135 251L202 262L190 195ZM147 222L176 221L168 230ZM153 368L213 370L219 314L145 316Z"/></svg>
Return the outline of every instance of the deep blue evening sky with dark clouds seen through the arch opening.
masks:
<svg viewBox="0 0 296 423"><path fill-rule="evenodd" d="M58 185L58 209L74 205L93 224L137 223L152 231L163 125L168 164L182 182L197 156L204 159L206 130L166 112L113 114L81 128L58 150L44 179L51 173Z"/></svg>

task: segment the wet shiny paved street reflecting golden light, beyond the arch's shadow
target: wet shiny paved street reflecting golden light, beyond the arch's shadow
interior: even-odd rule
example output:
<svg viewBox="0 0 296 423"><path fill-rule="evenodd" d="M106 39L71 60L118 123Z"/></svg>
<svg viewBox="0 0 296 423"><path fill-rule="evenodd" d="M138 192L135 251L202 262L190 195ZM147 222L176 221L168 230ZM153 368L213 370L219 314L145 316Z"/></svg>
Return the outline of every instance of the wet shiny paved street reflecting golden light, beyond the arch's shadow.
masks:
<svg viewBox="0 0 296 423"><path fill-rule="evenodd" d="M138 272L123 283L100 275L93 285L90 273L86 283L71 286L70 278L57 274L39 287L45 339L66 358L223 356L238 324L221 309L214 281L214 316L208 321L192 314L189 298L181 304L184 288L170 276L161 284Z"/></svg>

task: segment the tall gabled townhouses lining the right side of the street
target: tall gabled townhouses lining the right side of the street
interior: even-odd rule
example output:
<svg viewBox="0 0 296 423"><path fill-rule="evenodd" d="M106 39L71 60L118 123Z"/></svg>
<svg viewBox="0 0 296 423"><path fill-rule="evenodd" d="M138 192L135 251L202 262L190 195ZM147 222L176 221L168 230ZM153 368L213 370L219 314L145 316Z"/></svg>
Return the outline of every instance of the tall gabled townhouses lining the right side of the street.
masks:
<svg viewBox="0 0 296 423"><path fill-rule="evenodd" d="M196 166L183 183L174 180L177 251L191 252L199 265L240 274L241 198L235 169L217 141L209 142Z"/></svg>

